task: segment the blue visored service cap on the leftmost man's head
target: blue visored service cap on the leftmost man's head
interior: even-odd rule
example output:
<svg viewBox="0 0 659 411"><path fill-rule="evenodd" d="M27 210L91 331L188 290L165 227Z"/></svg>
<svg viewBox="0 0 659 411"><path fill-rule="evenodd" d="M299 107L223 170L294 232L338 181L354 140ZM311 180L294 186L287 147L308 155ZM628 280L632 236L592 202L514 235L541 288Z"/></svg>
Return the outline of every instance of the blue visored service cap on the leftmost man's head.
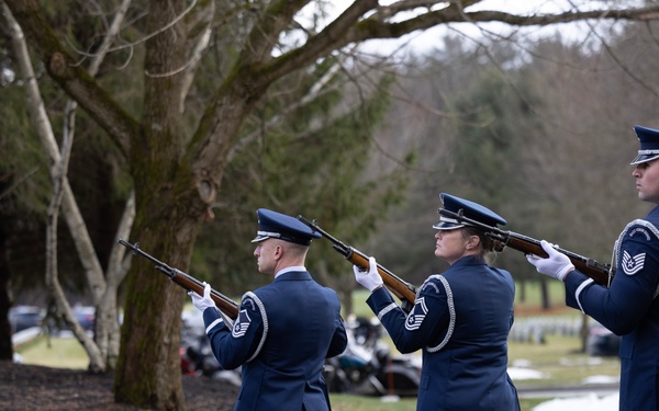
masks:
<svg viewBox="0 0 659 411"><path fill-rule="evenodd" d="M321 238L321 235L308 225L286 214L259 208L256 210L256 215L258 217L258 231L252 242L276 238L295 244L309 246L312 239Z"/></svg>

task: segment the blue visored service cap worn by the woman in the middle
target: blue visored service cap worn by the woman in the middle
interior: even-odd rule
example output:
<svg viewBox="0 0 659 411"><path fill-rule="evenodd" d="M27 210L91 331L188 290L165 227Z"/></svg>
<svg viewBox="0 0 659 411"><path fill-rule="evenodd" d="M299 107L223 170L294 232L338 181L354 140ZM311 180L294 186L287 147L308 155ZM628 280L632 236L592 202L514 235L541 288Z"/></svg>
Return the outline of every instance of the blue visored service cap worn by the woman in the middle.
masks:
<svg viewBox="0 0 659 411"><path fill-rule="evenodd" d="M501 217L496 213L492 212L487 207L483 207L480 204L470 202L469 199L463 199L446 193L439 194L439 198L442 198L444 209L449 210L454 214L460 214L463 217L467 217L471 220L482 222L491 227L496 227L498 224L502 226L505 226L507 224L507 221L504 220L503 217ZM463 220L454 218L451 216L446 216L442 214L439 217L439 221L433 225L433 228L437 230L455 230L456 228L462 228L465 226L472 225Z"/></svg>

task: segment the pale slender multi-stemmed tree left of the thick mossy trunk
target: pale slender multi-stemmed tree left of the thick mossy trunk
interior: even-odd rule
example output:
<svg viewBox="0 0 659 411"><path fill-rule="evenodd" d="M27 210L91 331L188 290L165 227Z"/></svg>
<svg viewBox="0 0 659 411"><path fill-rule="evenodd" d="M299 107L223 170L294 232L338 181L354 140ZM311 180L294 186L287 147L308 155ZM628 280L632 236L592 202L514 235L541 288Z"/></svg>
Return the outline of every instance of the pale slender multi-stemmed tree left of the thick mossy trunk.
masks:
<svg viewBox="0 0 659 411"><path fill-rule="evenodd" d="M125 15L125 11L127 10L130 3L131 0L124 0L122 8L114 18L113 24L111 25L108 36L103 39L103 43L100 47L100 52L96 54L92 58L92 61L90 64L90 72L92 76L96 75L96 72L98 71L98 68L100 67L100 64L112 43L112 38L119 33L119 27L121 26L121 22ZM11 12L4 3L2 3L2 8L5 21L8 22L8 25L12 28L14 54L18 57L21 72L26 79L26 91L31 96L30 101L32 102L30 104L32 117L35 123L41 125L40 127L37 127L38 135L41 136L42 145L52 161L51 176L53 181L53 197L48 207L47 220L48 227L46 236L46 283L49 285L58 311L63 313L65 320L74 330L75 335L85 346L90 358L90 369L93 372L105 370L105 367L108 365L108 362L105 359L110 357L112 358L112 362L115 362L115 358L119 355L119 323L116 321L116 290L119 287L119 283L116 282L116 279L123 278L123 276L120 275L120 271L116 271L116 275L111 277L112 279L114 279L112 282L112 287L109 288L107 286L107 282L103 278L102 269L93 249L93 244L87 231L85 221L82 220L82 217L80 215L76 199L72 196L72 192L70 190L68 179L66 175L68 170L68 159L70 157L70 150L72 147L75 134L77 103L75 100L70 100L67 102L63 132L64 137L62 152L58 152L57 142L54 138L52 126L45 112L43 101L41 99L38 85L34 79L34 72L32 69L32 64L30 61L29 54L26 52L26 45L22 35L22 30L15 22L15 20L13 20ZM60 204L63 201L65 205L64 215L69 226L69 230L71 231L71 237L74 238L74 241L78 248L78 254L80 261L82 262L82 266L86 267L87 279L90 289L92 290L94 307L97 308L98 320L96 327L97 333L94 335L96 342L87 335L85 330L79 326L78 321L72 315L70 305L66 300L66 296L62 289L58 279L57 221ZM130 202L129 205L132 205L132 214L134 215L134 202ZM126 224L132 224L132 218L130 218L130 210L127 213L127 217L124 218L124 220ZM127 228L124 226L122 227L122 229L124 231L126 229L130 230L130 226ZM123 275L125 275L125 272L123 273ZM99 343L98 345L97 342Z"/></svg>

